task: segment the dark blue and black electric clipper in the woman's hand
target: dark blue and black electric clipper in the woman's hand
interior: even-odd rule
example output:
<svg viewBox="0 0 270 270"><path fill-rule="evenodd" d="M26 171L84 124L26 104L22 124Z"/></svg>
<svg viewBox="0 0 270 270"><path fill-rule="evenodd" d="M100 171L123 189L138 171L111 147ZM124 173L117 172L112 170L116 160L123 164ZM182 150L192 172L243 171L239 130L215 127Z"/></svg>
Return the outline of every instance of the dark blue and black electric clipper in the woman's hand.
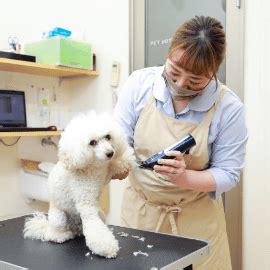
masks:
<svg viewBox="0 0 270 270"><path fill-rule="evenodd" d="M184 137L183 139L181 139L180 141L178 141L177 143L167 147L166 149L158 152L157 154L154 154L150 158L148 158L144 161L137 160L136 162L137 162L139 168L153 170L153 167L158 164L157 161L159 159L174 159L174 157L166 156L167 152L180 151L181 153L188 154L189 150L194 145L196 145L196 141L193 138L193 136L189 134L186 137Z"/></svg>

